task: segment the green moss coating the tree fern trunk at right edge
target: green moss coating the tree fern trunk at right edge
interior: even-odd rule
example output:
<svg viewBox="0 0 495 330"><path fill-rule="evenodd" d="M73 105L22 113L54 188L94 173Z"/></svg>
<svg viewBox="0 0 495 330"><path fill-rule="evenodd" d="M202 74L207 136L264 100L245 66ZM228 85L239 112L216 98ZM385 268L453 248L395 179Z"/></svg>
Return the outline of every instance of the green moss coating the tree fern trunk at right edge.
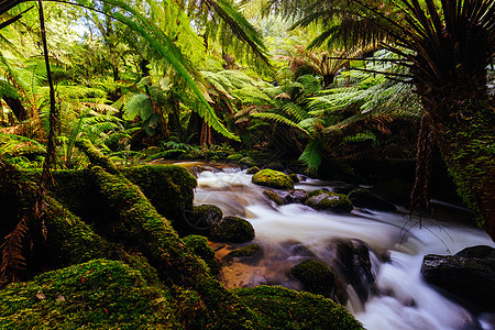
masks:
<svg viewBox="0 0 495 330"><path fill-rule="evenodd" d="M458 194L476 213L477 224L495 238L495 112L476 99L441 107L437 140ZM432 109L436 110L436 109Z"/></svg>

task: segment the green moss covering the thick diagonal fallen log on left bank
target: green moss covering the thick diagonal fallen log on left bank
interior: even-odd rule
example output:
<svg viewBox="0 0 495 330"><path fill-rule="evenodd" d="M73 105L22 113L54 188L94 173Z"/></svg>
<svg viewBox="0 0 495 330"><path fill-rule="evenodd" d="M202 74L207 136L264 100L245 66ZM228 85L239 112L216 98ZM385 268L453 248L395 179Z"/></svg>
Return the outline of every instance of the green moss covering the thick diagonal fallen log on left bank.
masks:
<svg viewBox="0 0 495 330"><path fill-rule="evenodd" d="M169 221L161 217L140 189L121 175L112 175L101 167L94 167L91 175L99 186L99 194L118 221L127 227L127 244L140 248L150 264L158 271L167 286L180 286L196 292L206 315L196 324L222 324L219 327L251 328L256 316L217 282L205 263L184 246ZM193 316L186 316L187 321ZM193 327L193 326L191 326Z"/></svg>

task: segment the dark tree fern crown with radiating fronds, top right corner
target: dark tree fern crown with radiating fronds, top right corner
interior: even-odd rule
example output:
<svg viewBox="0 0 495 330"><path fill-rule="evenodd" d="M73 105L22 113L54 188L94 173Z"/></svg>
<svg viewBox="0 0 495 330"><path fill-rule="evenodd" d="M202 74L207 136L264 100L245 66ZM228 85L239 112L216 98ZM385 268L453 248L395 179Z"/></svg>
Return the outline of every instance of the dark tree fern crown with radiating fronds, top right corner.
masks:
<svg viewBox="0 0 495 330"><path fill-rule="evenodd" d="M316 43L332 37L346 44L356 36L359 41L378 38L382 47L413 63L411 73L420 94L436 90L435 81L451 81L454 86L455 81L473 77L484 80L495 46L494 0L317 0L310 3L274 0L271 3L287 14L304 16L300 24L336 16L340 22L359 18L358 24L349 20L343 29L323 32ZM484 82L473 81L477 86Z"/></svg>

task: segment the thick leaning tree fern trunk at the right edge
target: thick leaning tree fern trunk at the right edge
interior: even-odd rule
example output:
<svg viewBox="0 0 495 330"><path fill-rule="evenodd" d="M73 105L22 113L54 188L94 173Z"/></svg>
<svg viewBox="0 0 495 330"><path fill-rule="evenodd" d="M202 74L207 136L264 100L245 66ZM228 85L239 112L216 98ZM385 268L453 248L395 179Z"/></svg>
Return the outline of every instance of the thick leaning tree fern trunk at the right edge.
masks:
<svg viewBox="0 0 495 330"><path fill-rule="evenodd" d="M476 77L438 86L422 103L458 193L495 239L495 109Z"/></svg>

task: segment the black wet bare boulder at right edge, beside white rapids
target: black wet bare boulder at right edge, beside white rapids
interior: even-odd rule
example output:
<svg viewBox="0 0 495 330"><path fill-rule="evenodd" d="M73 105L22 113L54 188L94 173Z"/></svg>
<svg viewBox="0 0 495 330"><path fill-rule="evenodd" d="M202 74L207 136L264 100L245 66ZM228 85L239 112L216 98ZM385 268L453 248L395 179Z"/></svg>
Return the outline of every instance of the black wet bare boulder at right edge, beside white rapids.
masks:
<svg viewBox="0 0 495 330"><path fill-rule="evenodd" d="M455 255L428 254L421 265L425 280L485 310L495 309L495 249L471 246Z"/></svg>

